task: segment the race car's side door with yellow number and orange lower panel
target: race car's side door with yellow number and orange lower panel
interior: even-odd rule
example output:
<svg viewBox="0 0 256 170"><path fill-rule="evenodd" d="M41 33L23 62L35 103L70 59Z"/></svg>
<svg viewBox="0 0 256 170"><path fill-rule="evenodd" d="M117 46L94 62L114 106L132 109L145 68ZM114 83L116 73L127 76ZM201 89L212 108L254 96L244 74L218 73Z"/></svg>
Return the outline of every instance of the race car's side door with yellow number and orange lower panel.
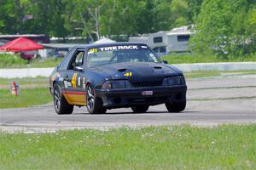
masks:
<svg viewBox="0 0 256 170"><path fill-rule="evenodd" d="M83 89L84 49L77 49L73 54L64 75L64 95L71 105L85 105Z"/></svg>

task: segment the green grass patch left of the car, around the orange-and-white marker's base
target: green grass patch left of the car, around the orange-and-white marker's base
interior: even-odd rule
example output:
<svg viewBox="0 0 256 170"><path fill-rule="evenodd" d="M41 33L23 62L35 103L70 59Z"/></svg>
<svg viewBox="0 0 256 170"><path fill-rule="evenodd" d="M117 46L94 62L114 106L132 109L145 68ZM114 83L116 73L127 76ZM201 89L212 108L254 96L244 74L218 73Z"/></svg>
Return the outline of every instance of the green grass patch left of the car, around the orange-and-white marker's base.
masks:
<svg viewBox="0 0 256 170"><path fill-rule="evenodd" d="M19 96L11 95L9 89L0 89L0 109L44 105L51 100L49 88L20 89Z"/></svg>

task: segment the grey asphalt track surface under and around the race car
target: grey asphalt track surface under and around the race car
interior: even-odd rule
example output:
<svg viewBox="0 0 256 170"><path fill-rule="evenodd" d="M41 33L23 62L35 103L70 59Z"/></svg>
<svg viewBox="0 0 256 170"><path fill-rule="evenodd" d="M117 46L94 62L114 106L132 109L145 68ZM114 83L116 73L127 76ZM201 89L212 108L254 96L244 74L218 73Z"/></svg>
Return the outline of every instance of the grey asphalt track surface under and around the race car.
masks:
<svg viewBox="0 0 256 170"><path fill-rule="evenodd" d="M225 123L256 122L256 76L197 78L187 80L188 104L181 113L169 113L165 105L151 106L147 113L130 108L90 115L75 107L73 115L55 114L52 103L32 108L0 110L0 131L13 133L55 132L74 128L108 130L113 127L147 127L189 123L212 127Z"/></svg>

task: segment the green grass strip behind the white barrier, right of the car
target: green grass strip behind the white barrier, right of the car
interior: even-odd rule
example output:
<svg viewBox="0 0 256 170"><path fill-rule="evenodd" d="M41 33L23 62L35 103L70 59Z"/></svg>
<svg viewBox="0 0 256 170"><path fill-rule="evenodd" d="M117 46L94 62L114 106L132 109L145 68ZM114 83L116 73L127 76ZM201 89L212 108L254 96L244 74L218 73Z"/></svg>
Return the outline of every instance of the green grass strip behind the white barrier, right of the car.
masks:
<svg viewBox="0 0 256 170"><path fill-rule="evenodd" d="M215 63L215 62L241 62L256 61L256 54L245 57L227 57L221 59L212 55L196 55L196 54L169 54L161 59L167 60L168 64L183 63Z"/></svg>

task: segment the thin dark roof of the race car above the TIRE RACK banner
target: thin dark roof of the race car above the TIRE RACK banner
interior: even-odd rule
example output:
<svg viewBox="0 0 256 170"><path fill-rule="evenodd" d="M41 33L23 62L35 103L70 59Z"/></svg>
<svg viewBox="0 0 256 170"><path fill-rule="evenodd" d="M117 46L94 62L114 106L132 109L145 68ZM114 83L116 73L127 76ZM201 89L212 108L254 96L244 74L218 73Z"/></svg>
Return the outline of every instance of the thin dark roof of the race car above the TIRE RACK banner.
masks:
<svg viewBox="0 0 256 170"><path fill-rule="evenodd" d="M144 45L147 46L145 43L140 42L108 42L108 43L90 43L75 46L75 48L102 48L102 47L109 47L109 46L120 46L120 45Z"/></svg>

